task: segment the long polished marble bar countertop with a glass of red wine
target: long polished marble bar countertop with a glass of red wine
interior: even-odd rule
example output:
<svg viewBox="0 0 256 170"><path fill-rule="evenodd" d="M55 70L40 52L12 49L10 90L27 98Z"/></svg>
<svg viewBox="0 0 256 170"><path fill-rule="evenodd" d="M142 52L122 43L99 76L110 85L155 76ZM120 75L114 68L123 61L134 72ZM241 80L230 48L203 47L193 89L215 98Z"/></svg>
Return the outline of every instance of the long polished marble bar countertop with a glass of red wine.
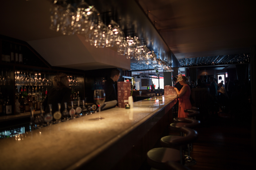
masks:
<svg viewBox="0 0 256 170"><path fill-rule="evenodd" d="M0 140L0 169L76 169L147 122L174 96L134 102L133 109L112 108Z"/></svg>

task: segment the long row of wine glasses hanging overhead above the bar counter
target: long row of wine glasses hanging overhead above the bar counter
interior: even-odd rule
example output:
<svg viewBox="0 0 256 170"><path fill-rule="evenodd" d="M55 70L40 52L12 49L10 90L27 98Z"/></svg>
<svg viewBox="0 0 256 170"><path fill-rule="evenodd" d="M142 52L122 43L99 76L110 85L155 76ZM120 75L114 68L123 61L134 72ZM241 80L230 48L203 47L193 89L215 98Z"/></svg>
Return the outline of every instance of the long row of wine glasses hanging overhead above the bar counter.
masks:
<svg viewBox="0 0 256 170"><path fill-rule="evenodd" d="M72 6L68 1L55 0L50 9L50 29L60 31L63 35L82 34L90 45L104 48L117 47L119 55L125 55L127 59L136 59L139 63L152 64L165 71L173 71L168 61L160 59L150 51L138 37L127 36L120 26L113 20L106 26L100 12L80 0L77 6ZM160 54L160 52L158 52Z"/></svg>

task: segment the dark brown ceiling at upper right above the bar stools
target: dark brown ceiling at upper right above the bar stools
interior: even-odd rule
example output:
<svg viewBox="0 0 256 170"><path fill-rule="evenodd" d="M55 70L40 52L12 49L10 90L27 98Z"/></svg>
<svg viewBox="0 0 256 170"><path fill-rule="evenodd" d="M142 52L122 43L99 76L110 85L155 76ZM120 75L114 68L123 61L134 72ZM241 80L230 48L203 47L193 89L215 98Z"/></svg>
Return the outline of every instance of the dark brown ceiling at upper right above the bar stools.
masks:
<svg viewBox="0 0 256 170"><path fill-rule="evenodd" d="M138 1L177 59L248 54L256 44L255 0Z"/></svg>

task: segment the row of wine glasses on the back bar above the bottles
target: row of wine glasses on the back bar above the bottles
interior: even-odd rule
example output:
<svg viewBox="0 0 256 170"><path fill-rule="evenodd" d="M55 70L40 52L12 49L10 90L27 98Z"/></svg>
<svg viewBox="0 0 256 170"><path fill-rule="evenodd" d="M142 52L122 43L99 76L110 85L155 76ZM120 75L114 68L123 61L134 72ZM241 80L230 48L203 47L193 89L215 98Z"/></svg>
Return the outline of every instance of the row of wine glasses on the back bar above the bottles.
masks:
<svg viewBox="0 0 256 170"><path fill-rule="evenodd" d="M31 75L31 73L28 73L25 71L15 71L15 85L16 86L51 86L52 80L50 78L50 74L44 73L44 78L41 78L41 75L42 75L41 73L34 73ZM46 77L48 77L48 79ZM69 79L69 86L80 85L80 81L78 80L78 77L77 79L75 79L75 76L68 76L68 79ZM7 81L7 83L8 82L10 84L10 81Z"/></svg>

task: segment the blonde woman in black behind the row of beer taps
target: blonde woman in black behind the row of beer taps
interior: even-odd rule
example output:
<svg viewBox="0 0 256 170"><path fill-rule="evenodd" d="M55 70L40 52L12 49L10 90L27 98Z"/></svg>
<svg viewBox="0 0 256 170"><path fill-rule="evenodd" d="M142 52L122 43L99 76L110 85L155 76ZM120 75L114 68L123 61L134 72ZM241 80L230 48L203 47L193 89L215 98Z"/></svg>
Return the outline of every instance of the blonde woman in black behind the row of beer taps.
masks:
<svg viewBox="0 0 256 170"><path fill-rule="evenodd" d="M64 73L58 73L53 78L53 86L48 92L48 96L45 98L42 105L44 106L44 111L49 112L49 104L52 104L52 113L58 111L58 103L61 103L61 112L64 110L64 103L69 102L71 89L69 88L69 80L67 75ZM67 108L68 109L68 108Z"/></svg>

